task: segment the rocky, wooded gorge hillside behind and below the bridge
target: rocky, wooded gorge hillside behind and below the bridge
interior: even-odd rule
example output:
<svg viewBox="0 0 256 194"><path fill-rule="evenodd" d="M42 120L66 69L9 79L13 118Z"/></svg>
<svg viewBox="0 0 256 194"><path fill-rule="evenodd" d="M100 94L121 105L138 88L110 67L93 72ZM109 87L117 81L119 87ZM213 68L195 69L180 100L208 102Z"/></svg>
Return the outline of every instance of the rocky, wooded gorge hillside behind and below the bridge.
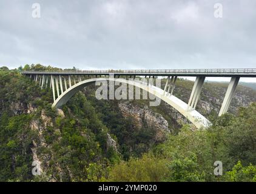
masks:
<svg viewBox="0 0 256 194"><path fill-rule="evenodd" d="M192 81L179 79L175 96L188 101L192 87ZM203 175L211 169L213 158L229 161L226 171L232 171L238 161L246 166L250 163L256 165L255 104L246 110L238 110L238 107L248 107L255 102L256 93L247 87L238 87L230 109L232 114L216 120L226 87L227 84L222 83L204 84L198 110L217 122L208 132L192 132L195 129L187 125L186 118L164 102L149 107L146 100L99 101L95 99L93 85L73 96L62 109L52 110L51 90L41 90L35 82L18 72L2 69L0 181L122 181L120 176L127 165L131 173L127 173L130 177L125 180L128 181L181 181L184 177L169 179L166 174L161 174L172 174L175 166L168 170L164 164L174 165L180 159L189 162L191 169L185 171L194 173L194 178L215 181L212 176ZM238 121L246 124L243 129ZM231 129L235 129L234 133ZM243 141L232 142L232 138L242 138L242 131ZM218 136L219 133L223 137ZM220 142L212 139L213 136ZM200 141L194 142L191 138ZM186 142L184 147L182 142ZM234 153L234 150L238 151ZM163 157L159 156L161 153ZM41 176L32 175L33 161L41 164ZM141 170L136 162L145 162L145 168L159 172L159 179L152 179L151 175L136 178L133 167ZM160 169L153 169L150 164L156 164Z"/></svg>

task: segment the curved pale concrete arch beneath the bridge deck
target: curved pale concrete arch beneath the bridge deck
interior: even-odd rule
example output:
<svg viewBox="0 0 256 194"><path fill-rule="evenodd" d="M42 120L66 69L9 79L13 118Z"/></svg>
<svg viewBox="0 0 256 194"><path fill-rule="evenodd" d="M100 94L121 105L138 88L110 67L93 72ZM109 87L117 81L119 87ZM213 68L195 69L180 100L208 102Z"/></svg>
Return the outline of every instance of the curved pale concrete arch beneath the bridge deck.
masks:
<svg viewBox="0 0 256 194"><path fill-rule="evenodd" d="M176 109L178 112L180 112L183 116L185 116L187 119L189 119L190 122L192 122L198 129L201 127L208 127L211 125L211 122L208 121L203 115L201 115L197 110L192 109L188 110L188 105L181 101L181 99L173 96L173 95L164 95L164 90L155 87L154 85L147 85L143 84L143 82L140 81L131 81L126 79L115 79L115 78L92 78L92 79L86 79L84 81L78 82L77 84L73 85L69 89L67 89L65 92L63 92L59 97L53 102L52 107L61 107L62 105L66 104L67 101L69 101L70 98L72 98L73 95L75 95L76 92L83 89L87 85L93 84L96 81L117 81L117 82L123 82L125 84L130 84L135 87L139 87L140 89L146 90L147 92L151 93L152 95L157 96L167 104L171 105L174 109Z"/></svg>

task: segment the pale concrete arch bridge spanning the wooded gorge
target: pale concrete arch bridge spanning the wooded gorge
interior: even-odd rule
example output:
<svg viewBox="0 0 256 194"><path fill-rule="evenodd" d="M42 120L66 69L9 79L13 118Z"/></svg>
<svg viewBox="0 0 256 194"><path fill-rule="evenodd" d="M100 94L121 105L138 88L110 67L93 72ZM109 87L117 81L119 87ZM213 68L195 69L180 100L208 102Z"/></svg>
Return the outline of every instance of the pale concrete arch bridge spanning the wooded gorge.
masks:
<svg viewBox="0 0 256 194"><path fill-rule="evenodd" d="M223 103L221 105L219 116L223 115L229 109L235 89L240 78L255 78L256 69L169 69L169 70L61 70L44 72L21 72L22 75L29 76L37 82L41 88L50 87L53 92L52 107L61 107L66 104L76 92L87 85L97 81L121 82L123 84L133 85L139 89L145 90L152 95L157 96L174 109L178 110L198 129L208 127L211 122L203 115L197 112L196 107L200 98L201 89L206 77L230 77L231 81L226 90ZM136 77L157 78L159 76L166 78L164 89L147 84L144 81L133 80ZM196 77L195 83L190 94L189 102L181 101L175 97L175 82L178 76ZM123 78L123 79L118 79ZM133 79L129 79L133 78Z"/></svg>

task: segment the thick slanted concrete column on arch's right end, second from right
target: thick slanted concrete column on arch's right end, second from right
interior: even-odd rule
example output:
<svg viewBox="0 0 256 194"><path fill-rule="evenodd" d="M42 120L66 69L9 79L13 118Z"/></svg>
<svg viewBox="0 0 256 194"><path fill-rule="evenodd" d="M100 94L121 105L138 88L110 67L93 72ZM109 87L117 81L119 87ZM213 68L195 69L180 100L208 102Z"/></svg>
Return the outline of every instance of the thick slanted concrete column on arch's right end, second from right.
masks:
<svg viewBox="0 0 256 194"><path fill-rule="evenodd" d="M205 76L198 76L195 79L195 84L193 86L193 89L189 98L187 110L191 108L195 109L195 107L197 106L197 102L200 97L200 93L204 84L204 79L205 79Z"/></svg>

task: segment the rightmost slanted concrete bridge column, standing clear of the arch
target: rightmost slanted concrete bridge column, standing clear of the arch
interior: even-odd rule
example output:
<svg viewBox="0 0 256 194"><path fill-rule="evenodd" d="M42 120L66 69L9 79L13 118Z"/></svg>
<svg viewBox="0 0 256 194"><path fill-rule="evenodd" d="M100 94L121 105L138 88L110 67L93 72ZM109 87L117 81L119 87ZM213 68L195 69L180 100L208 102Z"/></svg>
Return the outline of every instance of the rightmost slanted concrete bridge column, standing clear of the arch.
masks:
<svg viewBox="0 0 256 194"><path fill-rule="evenodd" d="M240 77L232 77L231 81L229 82L229 86L227 87L227 92L224 97L224 100L222 102L220 112L218 113L218 116L223 115L224 113L227 112L227 109L229 109L229 106L231 104L231 100L234 96L235 89L237 87L237 84L239 82Z"/></svg>

